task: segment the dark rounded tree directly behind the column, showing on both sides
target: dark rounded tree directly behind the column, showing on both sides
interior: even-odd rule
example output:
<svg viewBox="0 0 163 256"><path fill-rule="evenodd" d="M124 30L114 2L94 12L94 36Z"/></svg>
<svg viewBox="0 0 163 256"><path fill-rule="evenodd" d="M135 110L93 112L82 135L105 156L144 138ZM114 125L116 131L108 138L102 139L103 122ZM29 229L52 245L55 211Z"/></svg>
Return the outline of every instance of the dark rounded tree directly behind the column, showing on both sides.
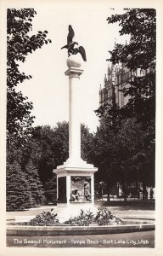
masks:
<svg viewBox="0 0 163 256"><path fill-rule="evenodd" d="M91 161L93 151L93 134L85 125L82 125L82 157ZM48 202L55 201L56 179L53 169L64 164L69 157L69 124L58 123L55 127L49 125L33 128L31 137L28 137L24 147L20 148L22 155L21 166L27 166L29 160L36 166L39 178L45 191ZM34 171L33 171L34 172ZM33 177L31 177L33 179Z"/></svg>

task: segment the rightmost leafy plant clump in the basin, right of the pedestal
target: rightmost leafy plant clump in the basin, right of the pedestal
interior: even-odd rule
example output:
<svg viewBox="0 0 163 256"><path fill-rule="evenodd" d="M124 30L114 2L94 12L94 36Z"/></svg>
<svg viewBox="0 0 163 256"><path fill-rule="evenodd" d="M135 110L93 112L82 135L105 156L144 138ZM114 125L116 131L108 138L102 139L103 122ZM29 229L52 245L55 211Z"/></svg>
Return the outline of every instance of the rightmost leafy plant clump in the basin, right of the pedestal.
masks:
<svg viewBox="0 0 163 256"><path fill-rule="evenodd" d="M99 226L109 225L112 223L121 224L121 218L117 218L107 207L98 208L98 212L94 220Z"/></svg>

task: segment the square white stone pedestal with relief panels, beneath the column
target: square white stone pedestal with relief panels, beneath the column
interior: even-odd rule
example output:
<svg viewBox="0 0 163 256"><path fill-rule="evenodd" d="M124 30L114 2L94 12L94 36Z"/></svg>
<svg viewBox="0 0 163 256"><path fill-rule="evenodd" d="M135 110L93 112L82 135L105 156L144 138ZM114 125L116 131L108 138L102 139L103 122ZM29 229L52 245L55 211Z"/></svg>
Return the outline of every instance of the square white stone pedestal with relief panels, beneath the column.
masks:
<svg viewBox="0 0 163 256"><path fill-rule="evenodd" d="M80 167L77 164L81 163ZM53 172L57 175L58 218L65 221L77 216L81 210L95 212L94 172L98 169L83 160L58 166Z"/></svg>

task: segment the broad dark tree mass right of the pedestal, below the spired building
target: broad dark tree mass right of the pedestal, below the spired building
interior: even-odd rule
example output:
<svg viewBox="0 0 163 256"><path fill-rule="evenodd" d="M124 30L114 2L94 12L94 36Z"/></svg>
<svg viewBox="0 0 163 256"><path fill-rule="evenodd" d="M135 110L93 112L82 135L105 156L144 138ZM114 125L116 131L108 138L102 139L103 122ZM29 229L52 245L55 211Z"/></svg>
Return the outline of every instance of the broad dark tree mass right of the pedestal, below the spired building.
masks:
<svg viewBox="0 0 163 256"><path fill-rule="evenodd" d="M152 131L143 131L136 118L123 117L116 106L99 108L97 113L101 122L94 138L93 163L98 166L98 182L108 185L108 195L116 183L122 184L125 196L127 184L154 185L155 143L149 147Z"/></svg>

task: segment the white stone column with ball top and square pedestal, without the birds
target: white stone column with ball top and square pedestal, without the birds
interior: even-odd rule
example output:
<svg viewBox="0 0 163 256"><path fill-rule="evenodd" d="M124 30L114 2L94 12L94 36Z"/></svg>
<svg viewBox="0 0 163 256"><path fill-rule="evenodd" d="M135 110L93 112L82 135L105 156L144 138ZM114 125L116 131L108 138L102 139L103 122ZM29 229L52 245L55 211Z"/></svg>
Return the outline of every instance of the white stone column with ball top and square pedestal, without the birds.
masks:
<svg viewBox="0 0 163 256"><path fill-rule="evenodd" d="M94 210L94 172L98 169L81 158L80 55L67 60L69 77L69 158L53 172L57 175L59 218L76 216L81 209ZM83 102L84 104L84 99ZM87 188L88 186L88 188ZM77 197L73 197L78 191Z"/></svg>

